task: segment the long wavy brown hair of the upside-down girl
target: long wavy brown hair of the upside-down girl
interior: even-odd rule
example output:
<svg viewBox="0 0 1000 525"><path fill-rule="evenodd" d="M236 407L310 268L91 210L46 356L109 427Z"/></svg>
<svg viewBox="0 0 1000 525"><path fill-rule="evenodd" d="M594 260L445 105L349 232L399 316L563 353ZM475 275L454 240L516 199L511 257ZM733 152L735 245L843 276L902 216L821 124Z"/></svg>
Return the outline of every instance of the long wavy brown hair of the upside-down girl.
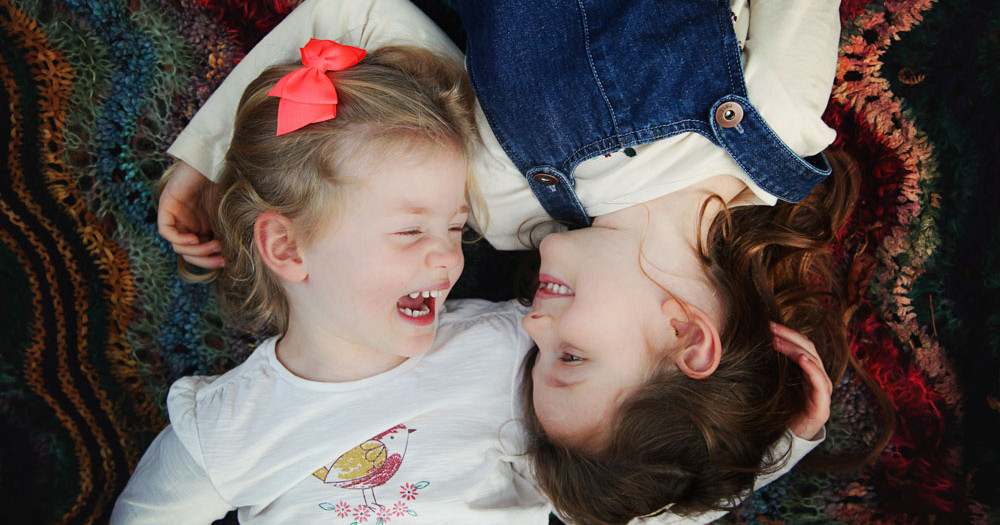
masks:
<svg viewBox="0 0 1000 525"><path fill-rule="evenodd" d="M692 379L662 359L659 370L619 406L602 450L550 440L532 406L531 365L523 389L528 453L540 488L573 523L626 523L667 510L693 515L730 510L755 478L783 457L768 452L804 409L802 369L774 349L770 322L816 345L834 384L848 366L867 378L847 343L849 315L830 243L850 214L857 173L843 154L827 153L834 172L798 204L745 206L719 213L701 258L723 305L722 357L707 378ZM535 350L537 352L537 349ZM877 455L892 432L892 409L868 382L888 424L869 453L827 458L858 466Z"/></svg>

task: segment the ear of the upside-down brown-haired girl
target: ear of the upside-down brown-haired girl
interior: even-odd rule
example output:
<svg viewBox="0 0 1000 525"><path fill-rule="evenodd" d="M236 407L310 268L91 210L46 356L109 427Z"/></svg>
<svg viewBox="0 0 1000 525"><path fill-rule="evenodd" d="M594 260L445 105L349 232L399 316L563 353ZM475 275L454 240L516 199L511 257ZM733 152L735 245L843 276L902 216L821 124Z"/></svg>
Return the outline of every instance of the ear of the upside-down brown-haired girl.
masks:
<svg viewBox="0 0 1000 525"><path fill-rule="evenodd" d="M682 306L676 299L664 301L663 313L670 318L670 335L676 341L677 368L694 379L712 375L722 358L722 341L715 323L702 309L691 304Z"/></svg>

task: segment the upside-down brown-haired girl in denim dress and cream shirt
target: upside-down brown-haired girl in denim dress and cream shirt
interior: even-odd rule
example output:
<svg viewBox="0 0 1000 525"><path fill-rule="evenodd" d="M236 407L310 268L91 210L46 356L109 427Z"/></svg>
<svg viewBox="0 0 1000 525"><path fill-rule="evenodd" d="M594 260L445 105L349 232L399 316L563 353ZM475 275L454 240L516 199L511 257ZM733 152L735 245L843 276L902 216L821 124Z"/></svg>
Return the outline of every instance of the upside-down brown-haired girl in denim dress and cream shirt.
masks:
<svg viewBox="0 0 1000 525"><path fill-rule="evenodd" d="M802 384L828 395L829 380L812 379L825 377L818 359L799 360L810 378L804 380L793 363L776 357L770 322L821 342L835 378L847 359L837 305L823 302L814 276L823 274L820 254L850 202L846 179L831 181L815 202L737 209L776 196L800 199L828 173L822 156L800 155L818 154L833 138L820 115L836 57L837 6L755 4L748 21L738 1L732 15L676 3L655 16L643 9L657 6L642 2L627 12L595 7L586 16L576 3L546 4L545 12L507 4L455 3L469 30L467 65L483 104L486 147L476 167L493 211L484 233L512 248L531 241L525 232L546 229L531 228L546 212L581 224L597 216L591 227L550 235L541 246L541 287L524 320L539 346L526 383L538 422L535 474L557 509L582 522L627 521L669 504L685 513L726 508L750 488L762 462L771 464L768 447L789 425L810 438L826 419L815 407L795 419L813 399L802 396ZM234 70L171 153L215 172L213 152L227 134L215 121L226 112L225 98L255 64L285 52L285 35L443 40L427 37L431 29L405 4L356 5L304 3L250 54L249 65ZM514 13L517 20L506 18ZM644 21L655 27L632 25ZM686 37L707 44L690 60L658 62L683 49L671 47L672 38ZM708 73L671 71L678 64ZM660 83L665 87L652 89ZM674 106L680 109L658 113ZM197 191L205 184L197 177L193 190L178 185L167 202ZM810 210L815 220L801 219ZM195 222L169 209L161 218L178 253L217 264L211 244L171 229ZM761 234L746 240L744 232L756 229ZM753 250L744 254L747 247ZM779 338L774 346L788 344ZM690 403L662 387L671 383L708 396L686 409ZM735 396L748 406L726 397L735 383L754 394ZM646 442L623 442L639 401L656 413L678 408L684 425L677 425L693 432L667 432L674 423L650 419ZM573 470L580 465L594 470ZM573 474L580 472L588 473ZM592 483L595 477L606 483ZM653 479L664 487L650 490Z"/></svg>

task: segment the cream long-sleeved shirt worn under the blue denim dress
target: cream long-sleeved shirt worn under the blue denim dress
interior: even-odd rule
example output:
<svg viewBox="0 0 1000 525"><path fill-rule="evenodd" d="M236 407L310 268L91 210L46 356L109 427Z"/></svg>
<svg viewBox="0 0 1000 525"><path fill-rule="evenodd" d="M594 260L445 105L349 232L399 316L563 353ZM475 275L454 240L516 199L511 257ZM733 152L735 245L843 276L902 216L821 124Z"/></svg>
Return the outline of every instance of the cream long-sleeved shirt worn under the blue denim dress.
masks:
<svg viewBox="0 0 1000 525"><path fill-rule="evenodd" d="M750 101L768 124L800 156L819 153L836 133L821 119L836 73L840 36L839 2L757 0L753 16L747 0L730 0L734 27L743 42L744 76ZM168 152L215 179L232 135L243 90L268 66L299 60L309 38L325 38L376 49L409 44L462 60L451 40L406 0L306 0L271 31L232 71L180 134ZM483 137L474 172L489 211L486 239L503 249L524 249L526 232L548 221L524 176L507 157L477 105ZM576 192L590 216L611 213L728 174L752 191L751 202L774 204L722 148L696 133L685 133L581 163ZM478 210L477 210L478 213ZM534 233L558 228L548 223ZM537 239L536 239L537 240Z"/></svg>

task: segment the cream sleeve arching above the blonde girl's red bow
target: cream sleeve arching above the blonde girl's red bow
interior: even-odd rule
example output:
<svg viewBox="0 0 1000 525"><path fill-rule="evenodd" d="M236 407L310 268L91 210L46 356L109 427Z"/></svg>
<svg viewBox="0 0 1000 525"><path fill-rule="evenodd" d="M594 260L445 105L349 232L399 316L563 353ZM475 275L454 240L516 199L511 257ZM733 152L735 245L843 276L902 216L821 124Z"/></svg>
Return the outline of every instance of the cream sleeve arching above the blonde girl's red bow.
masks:
<svg viewBox="0 0 1000 525"><path fill-rule="evenodd" d="M306 0L240 61L167 153L217 181L246 86L272 65L299 60L299 48L309 38L331 39L369 51L386 45L416 45L463 60L448 36L406 0Z"/></svg>

